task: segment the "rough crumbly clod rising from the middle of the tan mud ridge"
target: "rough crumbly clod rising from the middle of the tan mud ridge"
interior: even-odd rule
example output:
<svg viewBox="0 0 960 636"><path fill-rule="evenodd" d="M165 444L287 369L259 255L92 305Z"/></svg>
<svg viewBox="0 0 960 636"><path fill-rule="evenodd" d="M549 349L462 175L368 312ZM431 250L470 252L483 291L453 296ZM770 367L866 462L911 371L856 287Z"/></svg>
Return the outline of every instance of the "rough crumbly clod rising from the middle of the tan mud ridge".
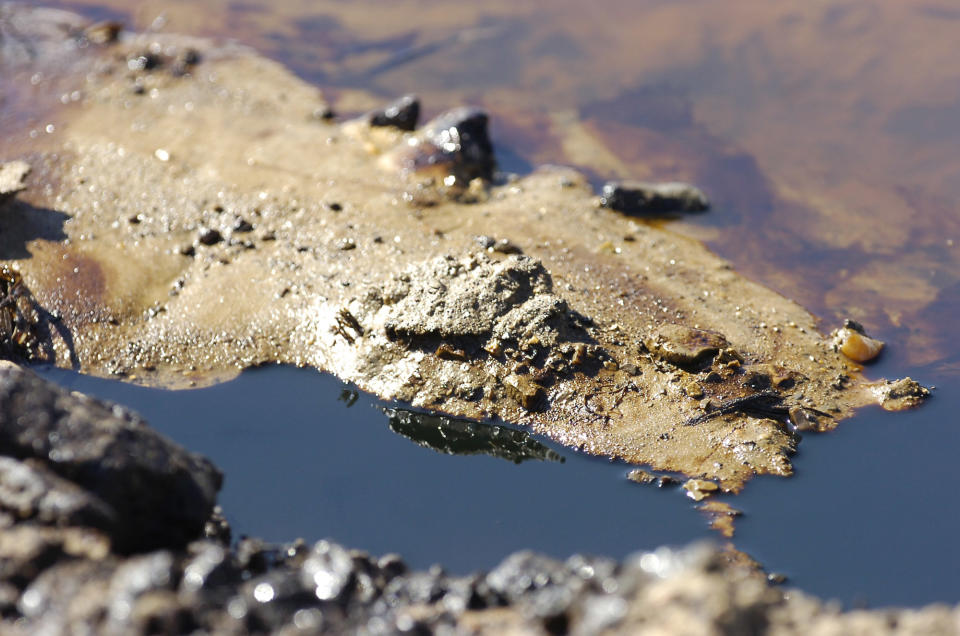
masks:
<svg viewBox="0 0 960 636"><path fill-rule="evenodd" d="M356 343L369 368L439 358L439 368L419 372L424 382L411 397L423 404L496 396L534 412L548 386L602 357L588 322L553 293L538 260L472 253L430 259L369 289L338 312L333 331Z"/></svg>

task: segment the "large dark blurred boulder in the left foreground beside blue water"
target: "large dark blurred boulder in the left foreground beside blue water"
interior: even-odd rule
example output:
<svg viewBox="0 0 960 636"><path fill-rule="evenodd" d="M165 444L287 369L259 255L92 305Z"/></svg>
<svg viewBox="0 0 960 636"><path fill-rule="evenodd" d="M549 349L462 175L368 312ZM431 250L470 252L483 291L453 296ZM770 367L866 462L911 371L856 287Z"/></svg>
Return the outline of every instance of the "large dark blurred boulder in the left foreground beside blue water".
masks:
<svg viewBox="0 0 960 636"><path fill-rule="evenodd" d="M203 531L220 472L138 416L10 363L0 366L0 403L4 508L52 525L83 520L121 551L183 545Z"/></svg>

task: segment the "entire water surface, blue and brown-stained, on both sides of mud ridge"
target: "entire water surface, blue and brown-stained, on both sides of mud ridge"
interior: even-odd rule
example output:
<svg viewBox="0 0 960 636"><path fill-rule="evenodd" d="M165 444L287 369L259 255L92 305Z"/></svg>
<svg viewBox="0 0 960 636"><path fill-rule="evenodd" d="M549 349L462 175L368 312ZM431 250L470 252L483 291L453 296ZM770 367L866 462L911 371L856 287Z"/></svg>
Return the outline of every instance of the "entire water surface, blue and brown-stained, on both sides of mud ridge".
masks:
<svg viewBox="0 0 960 636"><path fill-rule="evenodd" d="M364 103L358 91L414 91L428 113L483 105L508 169L698 183L713 210L673 229L822 316L824 331L863 322L888 343L871 377L940 387L915 412L865 410L806 437L795 478L758 479L732 501L746 513L737 547L851 604L960 601L960 21L949 0L55 4L238 38L344 111ZM570 124L602 152L571 145ZM556 447L564 463L440 455L391 432L375 401L347 408L343 387L311 371L175 394L48 376L213 458L238 532L332 536L461 571L521 547L620 556L708 535L679 493L630 484L622 466Z"/></svg>

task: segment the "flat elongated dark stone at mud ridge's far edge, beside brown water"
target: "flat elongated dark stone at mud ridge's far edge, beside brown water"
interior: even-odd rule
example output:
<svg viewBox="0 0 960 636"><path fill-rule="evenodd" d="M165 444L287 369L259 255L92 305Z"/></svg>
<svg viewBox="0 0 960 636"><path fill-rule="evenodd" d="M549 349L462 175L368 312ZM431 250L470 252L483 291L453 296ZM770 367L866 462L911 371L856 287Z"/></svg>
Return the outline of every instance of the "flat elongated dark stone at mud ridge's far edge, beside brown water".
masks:
<svg viewBox="0 0 960 636"><path fill-rule="evenodd" d="M710 208L706 195L689 183L610 181L603 186L600 205L626 214L703 212Z"/></svg>

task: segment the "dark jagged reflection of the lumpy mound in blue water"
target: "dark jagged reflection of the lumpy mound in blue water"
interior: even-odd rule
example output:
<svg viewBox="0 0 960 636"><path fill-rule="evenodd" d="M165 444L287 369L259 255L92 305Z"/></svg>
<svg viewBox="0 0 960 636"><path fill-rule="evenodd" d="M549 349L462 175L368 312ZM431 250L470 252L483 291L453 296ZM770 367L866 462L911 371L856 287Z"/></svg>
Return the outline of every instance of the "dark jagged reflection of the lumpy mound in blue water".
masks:
<svg viewBox="0 0 960 636"><path fill-rule="evenodd" d="M405 409L384 409L390 430L447 455L492 455L519 464L528 459L562 462L563 456L523 431Z"/></svg>

